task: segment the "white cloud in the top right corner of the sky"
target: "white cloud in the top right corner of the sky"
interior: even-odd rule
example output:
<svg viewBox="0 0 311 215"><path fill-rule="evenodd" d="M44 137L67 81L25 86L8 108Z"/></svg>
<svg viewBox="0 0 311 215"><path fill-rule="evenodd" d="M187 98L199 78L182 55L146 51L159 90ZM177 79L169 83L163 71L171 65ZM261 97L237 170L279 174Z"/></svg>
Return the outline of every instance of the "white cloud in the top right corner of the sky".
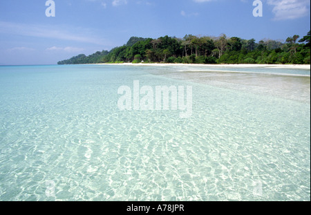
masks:
<svg viewBox="0 0 311 215"><path fill-rule="evenodd" d="M274 6L274 20L298 19L310 11L310 0L267 0L267 4Z"/></svg>

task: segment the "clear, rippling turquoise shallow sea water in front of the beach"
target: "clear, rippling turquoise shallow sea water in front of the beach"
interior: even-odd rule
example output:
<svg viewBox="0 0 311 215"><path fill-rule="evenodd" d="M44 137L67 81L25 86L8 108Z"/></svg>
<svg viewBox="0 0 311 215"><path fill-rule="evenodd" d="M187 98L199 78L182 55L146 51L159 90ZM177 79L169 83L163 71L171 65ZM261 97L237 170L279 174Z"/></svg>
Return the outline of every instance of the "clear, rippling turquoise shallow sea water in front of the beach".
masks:
<svg viewBox="0 0 311 215"><path fill-rule="evenodd" d="M191 118L120 111L134 80ZM0 66L0 200L310 200L310 70Z"/></svg>

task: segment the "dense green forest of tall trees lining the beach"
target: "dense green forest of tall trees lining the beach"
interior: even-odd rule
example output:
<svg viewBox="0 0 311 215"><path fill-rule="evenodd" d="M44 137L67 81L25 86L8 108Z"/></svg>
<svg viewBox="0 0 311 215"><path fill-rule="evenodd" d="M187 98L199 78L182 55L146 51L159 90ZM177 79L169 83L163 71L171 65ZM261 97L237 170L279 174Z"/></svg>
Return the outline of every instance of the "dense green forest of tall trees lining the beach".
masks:
<svg viewBox="0 0 311 215"><path fill-rule="evenodd" d="M131 37L124 46L97 51L93 55L77 55L58 64L310 64L310 31L304 37L294 35L286 41L241 39L220 35L158 39Z"/></svg>

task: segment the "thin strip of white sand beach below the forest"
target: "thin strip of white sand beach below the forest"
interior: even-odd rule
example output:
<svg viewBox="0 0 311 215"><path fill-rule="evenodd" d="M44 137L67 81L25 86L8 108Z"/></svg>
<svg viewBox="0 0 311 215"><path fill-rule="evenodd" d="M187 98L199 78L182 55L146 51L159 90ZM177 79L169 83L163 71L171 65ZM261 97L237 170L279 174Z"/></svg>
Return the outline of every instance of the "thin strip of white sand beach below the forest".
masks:
<svg viewBox="0 0 311 215"><path fill-rule="evenodd" d="M266 68L298 68L298 69L310 69L310 65L307 64L93 64L93 65L124 65L124 66L207 66L207 67L236 67L236 68L249 68L249 67L266 67Z"/></svg>

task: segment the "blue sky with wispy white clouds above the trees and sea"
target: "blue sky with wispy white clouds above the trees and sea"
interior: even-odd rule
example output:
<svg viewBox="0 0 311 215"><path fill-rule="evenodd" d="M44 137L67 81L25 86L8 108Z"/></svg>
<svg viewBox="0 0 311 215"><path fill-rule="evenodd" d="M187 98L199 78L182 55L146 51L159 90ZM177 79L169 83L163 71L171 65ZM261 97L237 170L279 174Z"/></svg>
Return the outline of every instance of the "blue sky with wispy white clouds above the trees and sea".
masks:
<svg viewBox="0 0 311 215"><path fill-rule="evenodd" d="M0 0L0 65L57 64L126 44L185 35L281 39L310 30L310 0Z"/></svg>

